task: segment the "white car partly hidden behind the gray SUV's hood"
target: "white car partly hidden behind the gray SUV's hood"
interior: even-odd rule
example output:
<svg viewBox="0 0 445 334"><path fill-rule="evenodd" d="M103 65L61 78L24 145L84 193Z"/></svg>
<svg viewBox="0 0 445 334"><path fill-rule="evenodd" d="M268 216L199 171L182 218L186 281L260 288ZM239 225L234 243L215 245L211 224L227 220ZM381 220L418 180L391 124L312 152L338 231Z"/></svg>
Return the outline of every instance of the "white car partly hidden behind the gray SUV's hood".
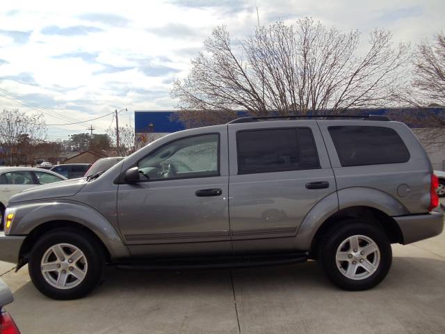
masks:
<svg viewBox="0 0 445 334"><path fill-rule="evenodd" d="M22 190L67 180L51 170L32 167L0 167L0 224L11 196Z"/></svg>

